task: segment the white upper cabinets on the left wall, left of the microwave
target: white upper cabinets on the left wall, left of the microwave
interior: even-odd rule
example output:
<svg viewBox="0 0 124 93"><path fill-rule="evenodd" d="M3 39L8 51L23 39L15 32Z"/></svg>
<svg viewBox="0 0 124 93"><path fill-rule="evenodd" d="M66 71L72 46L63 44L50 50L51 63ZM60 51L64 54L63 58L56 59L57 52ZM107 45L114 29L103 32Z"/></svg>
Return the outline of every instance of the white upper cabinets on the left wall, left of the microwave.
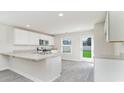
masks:
<svg viewBox="0 0 124 93"><path fill-rule="evenodd" d="M39 34L29 32L26 30L15 29L14 30L14 44L38 45L39 44Z"/></svg>

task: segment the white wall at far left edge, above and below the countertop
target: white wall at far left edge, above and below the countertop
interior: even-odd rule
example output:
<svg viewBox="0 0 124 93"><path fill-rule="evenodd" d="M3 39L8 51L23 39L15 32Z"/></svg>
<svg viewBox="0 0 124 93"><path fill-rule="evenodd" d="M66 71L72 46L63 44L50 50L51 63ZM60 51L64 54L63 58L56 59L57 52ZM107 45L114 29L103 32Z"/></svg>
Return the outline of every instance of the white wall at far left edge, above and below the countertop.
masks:
<svg viewBox="0 0 124 93"><path fill-rule="evenodd" d="M13 28L0 24L0 53L13 51ZM0 70L7 68L8 59L0 55Z"/></svg>

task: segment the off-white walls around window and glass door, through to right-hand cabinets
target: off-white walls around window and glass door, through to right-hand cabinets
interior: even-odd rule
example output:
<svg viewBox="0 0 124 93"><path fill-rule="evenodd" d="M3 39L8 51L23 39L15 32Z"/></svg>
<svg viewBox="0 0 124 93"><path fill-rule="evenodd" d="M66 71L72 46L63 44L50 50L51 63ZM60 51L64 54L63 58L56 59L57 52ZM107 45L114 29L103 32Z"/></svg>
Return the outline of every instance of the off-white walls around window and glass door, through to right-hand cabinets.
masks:
<svg viewBox="0 0 124 93"><path fill-rule="evenodd" d="M95 25L94 30L82 31L56 35L55 46L60 51L61 50L61 38L71 37L72 38L72 54L62 54L62 59L66 60L81 60L80 59L80 38L81 36L93 36L94 39L94 56L100 55L113 55L114 54L114 44L108 43L105 40L104 35L104 23L98 23Z"/></svg>

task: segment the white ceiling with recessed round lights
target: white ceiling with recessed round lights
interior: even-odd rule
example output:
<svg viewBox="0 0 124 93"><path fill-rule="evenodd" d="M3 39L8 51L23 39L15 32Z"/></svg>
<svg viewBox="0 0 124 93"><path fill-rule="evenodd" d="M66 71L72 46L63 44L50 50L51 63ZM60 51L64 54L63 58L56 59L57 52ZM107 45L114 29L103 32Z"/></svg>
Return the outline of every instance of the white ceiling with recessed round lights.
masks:
<svg viewBox="0 0 124 93"><path fill-rule="evenodd" d="M58 16L63 13L64 16ZM1 11L0 23L45 32L61 34L85 31L105 20L106 12L99 11Z"/></svg>

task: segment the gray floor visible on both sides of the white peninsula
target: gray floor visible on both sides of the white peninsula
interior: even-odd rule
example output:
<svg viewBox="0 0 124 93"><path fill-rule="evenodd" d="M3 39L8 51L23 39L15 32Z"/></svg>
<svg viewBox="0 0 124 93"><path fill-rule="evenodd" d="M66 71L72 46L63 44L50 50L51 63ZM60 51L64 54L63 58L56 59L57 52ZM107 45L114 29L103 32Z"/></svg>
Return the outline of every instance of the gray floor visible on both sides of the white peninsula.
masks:
<svg viewBox="0 0 124 93"><path fill-rule="evenodd" d="M0 82L32 82L13 71L0 71ZM61 76L54 82L93 82L93 64L62 61Z"/></svg>

